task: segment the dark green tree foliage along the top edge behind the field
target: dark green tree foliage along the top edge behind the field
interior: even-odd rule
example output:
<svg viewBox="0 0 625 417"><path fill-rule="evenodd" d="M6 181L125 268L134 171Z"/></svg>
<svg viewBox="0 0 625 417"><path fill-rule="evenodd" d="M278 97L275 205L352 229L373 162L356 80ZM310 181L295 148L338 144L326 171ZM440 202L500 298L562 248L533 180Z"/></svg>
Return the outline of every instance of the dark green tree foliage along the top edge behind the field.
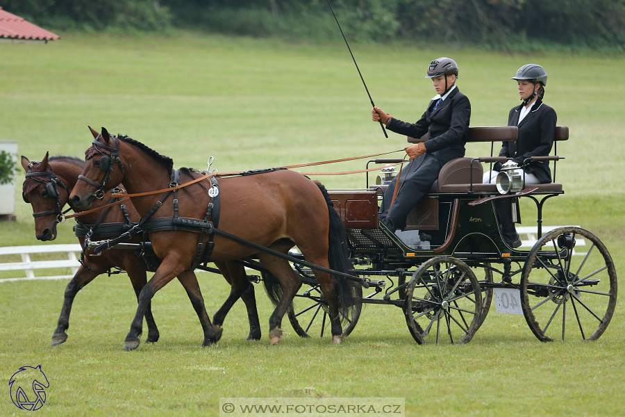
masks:
<svg viewBox="0 0 625 417"><path fill-rule="evenodd" d="M625 0L331 0L349 38L458 44L541 42L625 49ZM327 0L0 0L60 28L176 26L242 35L336 38ZM340 33L338 34L340 36Z"/></svg>

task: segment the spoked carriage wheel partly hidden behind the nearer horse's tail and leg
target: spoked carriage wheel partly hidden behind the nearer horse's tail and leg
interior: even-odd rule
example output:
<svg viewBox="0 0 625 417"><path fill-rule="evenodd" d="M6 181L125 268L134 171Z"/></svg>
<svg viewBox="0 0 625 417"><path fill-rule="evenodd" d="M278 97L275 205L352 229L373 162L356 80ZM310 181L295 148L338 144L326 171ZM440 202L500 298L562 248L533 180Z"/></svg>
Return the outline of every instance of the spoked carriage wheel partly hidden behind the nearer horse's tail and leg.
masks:
<svg viewBox="0 0 625 417"><path fill-rule="evenodd" d="M358 304L349 309L347 317L341 316L343 336L348 336L360 318L363 307L360 299L363 297L363 288L355 288ZM319 284L311 286L306 291L301 291L293 300L287 311L289 321L295 333L301 337L331 336L328 303L319 288Z"/></svg>

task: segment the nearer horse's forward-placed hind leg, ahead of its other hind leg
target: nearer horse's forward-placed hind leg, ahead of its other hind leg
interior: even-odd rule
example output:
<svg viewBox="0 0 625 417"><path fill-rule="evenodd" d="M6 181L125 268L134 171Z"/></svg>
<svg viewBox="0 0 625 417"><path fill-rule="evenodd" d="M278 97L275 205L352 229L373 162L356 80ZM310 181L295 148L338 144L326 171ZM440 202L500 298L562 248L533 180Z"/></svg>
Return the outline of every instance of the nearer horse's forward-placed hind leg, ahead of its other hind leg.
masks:
<svg viewBox="0 0 625 417"><path fill-rule="evenodd" d="M276 305L272 316L269 317L269 341L272 345L277 345L282 338L282 318L301 287L301 279L284 259L269 254L258 254L258 258L269 272L278 278L283 288L282 298Z"/></svg>

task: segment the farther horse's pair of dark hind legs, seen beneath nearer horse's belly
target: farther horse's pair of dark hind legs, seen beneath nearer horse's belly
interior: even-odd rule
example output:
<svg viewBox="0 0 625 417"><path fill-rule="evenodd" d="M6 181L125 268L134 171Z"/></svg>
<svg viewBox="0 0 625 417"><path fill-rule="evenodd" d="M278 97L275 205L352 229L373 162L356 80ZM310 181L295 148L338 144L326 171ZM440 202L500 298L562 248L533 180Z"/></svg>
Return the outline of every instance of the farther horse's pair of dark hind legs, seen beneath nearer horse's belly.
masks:
<svg viewBox="0 0 625 417"><path fill-rule="evenodd" d="M215 263L217 268L222 272L226 281L231 284L230 295L226 302L219 308L215 316L213 316L213 327L217 339L222 336L222 325L235 302L242 298L247 308L247 318L249 320L249 335L247 340L257 341L260 339L260 320L258 319L258 310L256 309L256 297L254 296L254 288L247 279L245 268L243 265L235 262L219 262Z"/></svg>

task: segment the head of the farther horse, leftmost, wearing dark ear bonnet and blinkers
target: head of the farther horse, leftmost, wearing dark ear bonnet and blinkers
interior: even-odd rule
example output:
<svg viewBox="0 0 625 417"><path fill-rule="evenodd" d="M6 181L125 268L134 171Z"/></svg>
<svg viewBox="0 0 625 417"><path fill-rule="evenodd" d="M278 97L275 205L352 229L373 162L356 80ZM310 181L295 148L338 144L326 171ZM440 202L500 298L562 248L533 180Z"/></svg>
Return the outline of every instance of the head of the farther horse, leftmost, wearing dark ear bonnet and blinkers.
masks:
<svg viewBox="0 0 625 417"><path fill-rule="evenodd" d="M26 171L22 197L33 207L38 240L56 239L56 224L65 221L61 208L69 199L69 190L52 172L48 156L47 152L41 162L31 162L22 156L22 167Z"/></svg>

